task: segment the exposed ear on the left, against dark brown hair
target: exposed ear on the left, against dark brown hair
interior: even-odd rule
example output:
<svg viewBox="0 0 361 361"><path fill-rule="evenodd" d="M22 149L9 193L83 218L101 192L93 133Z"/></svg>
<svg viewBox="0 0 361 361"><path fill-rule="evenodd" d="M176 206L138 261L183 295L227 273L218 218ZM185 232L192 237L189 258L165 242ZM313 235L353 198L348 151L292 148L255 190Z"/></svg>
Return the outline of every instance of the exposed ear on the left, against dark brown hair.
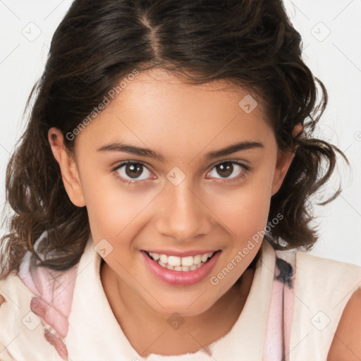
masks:
<svg viewBox="0 0 361 361"><path fill-rule="evenodd" d="M71 202L77 207L85 206L85 199L80 183L78 167L75 159L71 157L63 141L63 133L59 128L50 128L48 139L54 158L59 163L63 184Z"/></svg>

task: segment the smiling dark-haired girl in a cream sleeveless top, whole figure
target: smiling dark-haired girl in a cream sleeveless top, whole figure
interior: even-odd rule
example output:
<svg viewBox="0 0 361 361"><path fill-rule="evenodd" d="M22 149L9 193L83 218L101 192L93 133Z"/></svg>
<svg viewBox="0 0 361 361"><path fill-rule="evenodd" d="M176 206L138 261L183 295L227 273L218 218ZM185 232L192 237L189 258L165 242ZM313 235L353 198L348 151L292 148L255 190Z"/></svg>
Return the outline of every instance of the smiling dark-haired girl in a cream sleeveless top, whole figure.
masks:
<svg viewBox="0 0 361 361"><path fill-rule="evenodd" d="M281 1L74 1L8 164L0 360L360 359L361 267L305 252L345 156L300 49Z"/></svg>

